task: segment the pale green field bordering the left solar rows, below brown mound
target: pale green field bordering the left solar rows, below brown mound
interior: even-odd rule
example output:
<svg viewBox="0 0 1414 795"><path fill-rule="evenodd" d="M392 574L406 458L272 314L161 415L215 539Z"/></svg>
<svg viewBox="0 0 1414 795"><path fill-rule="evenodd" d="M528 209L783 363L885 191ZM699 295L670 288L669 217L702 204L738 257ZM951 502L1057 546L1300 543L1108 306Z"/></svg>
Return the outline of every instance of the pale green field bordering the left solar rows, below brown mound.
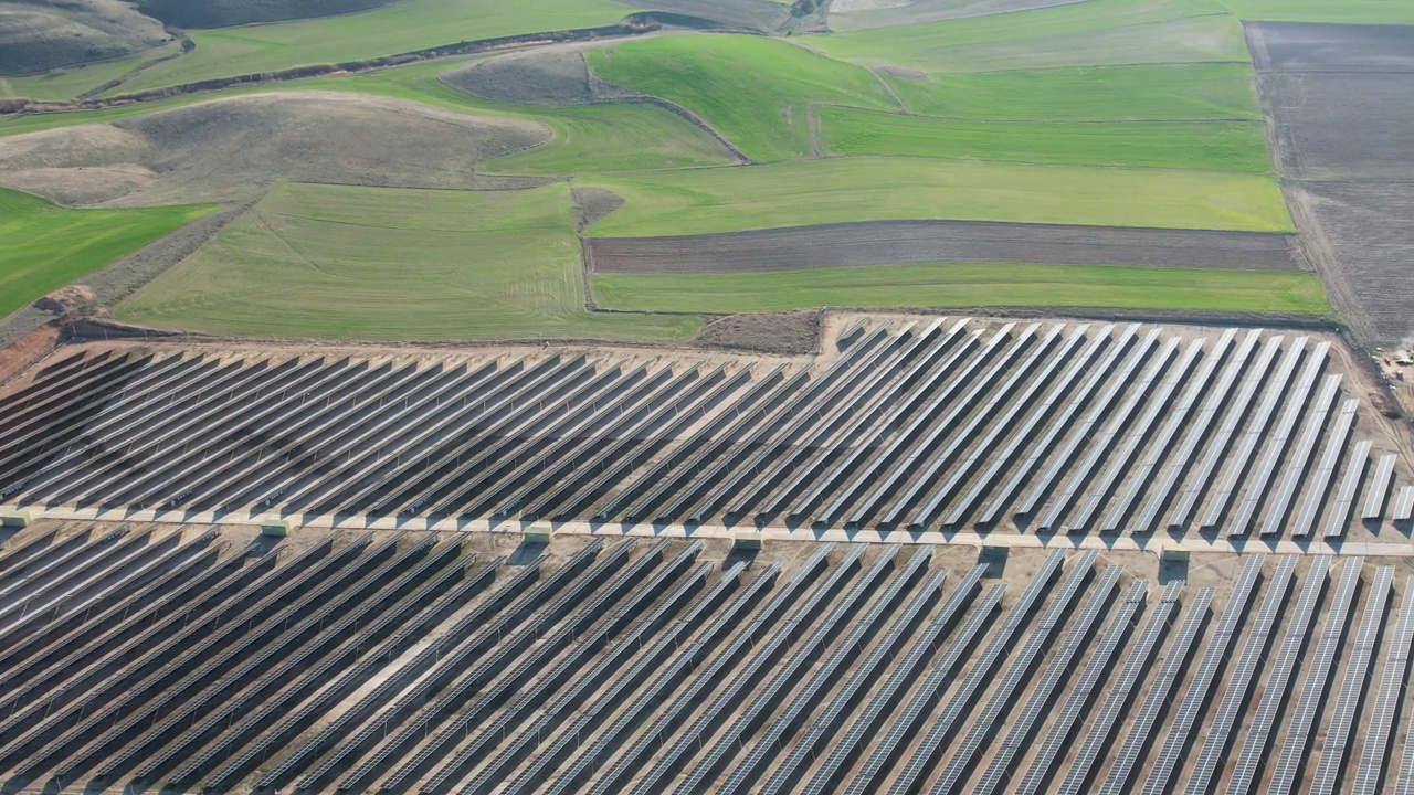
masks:
<svg viewBox="0 0 1414 795"><path fill-rule="evenodd" d="M691 317L591 314L570 190L283 184L124 301L123 320L339 340L672 341Z"/></svg>

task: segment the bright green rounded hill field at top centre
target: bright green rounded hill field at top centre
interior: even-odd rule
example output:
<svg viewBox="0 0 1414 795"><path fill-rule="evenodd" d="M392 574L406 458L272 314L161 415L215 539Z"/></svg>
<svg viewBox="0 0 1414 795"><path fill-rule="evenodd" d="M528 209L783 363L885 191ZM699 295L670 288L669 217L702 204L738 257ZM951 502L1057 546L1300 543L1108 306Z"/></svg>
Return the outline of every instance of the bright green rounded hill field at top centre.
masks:
<svg viewBox="0 0 1414 795"><path fill-rule="evenodd" d="M814 103L898 109L868 69L756 35L672 35L588 52L611 82L701 116L755 160L810 154L806 108Z"/></svg>

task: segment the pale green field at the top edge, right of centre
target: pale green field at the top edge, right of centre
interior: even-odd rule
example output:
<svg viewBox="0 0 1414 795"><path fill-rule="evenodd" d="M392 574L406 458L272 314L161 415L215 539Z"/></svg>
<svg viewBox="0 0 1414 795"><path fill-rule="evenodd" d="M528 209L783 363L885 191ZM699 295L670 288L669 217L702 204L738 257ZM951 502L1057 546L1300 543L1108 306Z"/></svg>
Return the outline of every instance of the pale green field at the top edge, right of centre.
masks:
<svg viewBox="0 0 1414 795"><path fill-rule="evenodd" d="M1226 11L1216 0L1087 0L806 41L837 58L925 72L1247 62L1241 24ZM848 20L831 14L830 24L847 30Z"/></svg>

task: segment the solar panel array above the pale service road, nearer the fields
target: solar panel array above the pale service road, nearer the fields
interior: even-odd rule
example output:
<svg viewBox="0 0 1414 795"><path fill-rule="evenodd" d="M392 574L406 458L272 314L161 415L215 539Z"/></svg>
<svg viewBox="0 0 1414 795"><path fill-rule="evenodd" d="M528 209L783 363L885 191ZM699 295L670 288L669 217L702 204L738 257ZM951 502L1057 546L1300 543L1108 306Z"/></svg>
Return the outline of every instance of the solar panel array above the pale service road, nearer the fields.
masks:
<svg viewBox="0 0 1414 795"><path fill-rule="evenodd" d="M1309 335L939 318L827 345L817 362L65 351L0 393L0 499L1329 539L1414 513Z"/></svg>

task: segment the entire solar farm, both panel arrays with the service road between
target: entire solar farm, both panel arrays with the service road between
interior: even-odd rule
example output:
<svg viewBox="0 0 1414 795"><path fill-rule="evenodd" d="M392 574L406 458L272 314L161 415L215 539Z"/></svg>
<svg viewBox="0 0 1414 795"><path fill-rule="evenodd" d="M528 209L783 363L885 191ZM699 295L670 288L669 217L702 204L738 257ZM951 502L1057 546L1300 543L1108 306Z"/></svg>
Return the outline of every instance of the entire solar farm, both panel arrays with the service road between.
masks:
<svg viewBox="0 0 1414 795"><path fill-rule="evenodd" d="M65 345L0 392L0 787L1414 792L1348 351Z"/></svg>

